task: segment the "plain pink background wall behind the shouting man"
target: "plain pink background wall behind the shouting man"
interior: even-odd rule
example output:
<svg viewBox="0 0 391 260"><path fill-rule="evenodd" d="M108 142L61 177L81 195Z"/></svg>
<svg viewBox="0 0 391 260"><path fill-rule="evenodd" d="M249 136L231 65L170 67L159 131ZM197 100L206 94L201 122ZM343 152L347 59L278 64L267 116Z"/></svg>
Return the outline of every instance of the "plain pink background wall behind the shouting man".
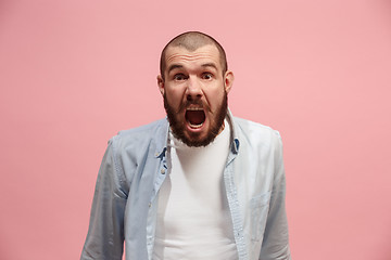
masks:
<svg viewBox="0 0 391 260"><path fill-rule="evenodd" d="M0 0L0 259L78 259L106 141L165 115L159 55L226 48L285 142L293 259L391 259L391 2Z"/></svg>

